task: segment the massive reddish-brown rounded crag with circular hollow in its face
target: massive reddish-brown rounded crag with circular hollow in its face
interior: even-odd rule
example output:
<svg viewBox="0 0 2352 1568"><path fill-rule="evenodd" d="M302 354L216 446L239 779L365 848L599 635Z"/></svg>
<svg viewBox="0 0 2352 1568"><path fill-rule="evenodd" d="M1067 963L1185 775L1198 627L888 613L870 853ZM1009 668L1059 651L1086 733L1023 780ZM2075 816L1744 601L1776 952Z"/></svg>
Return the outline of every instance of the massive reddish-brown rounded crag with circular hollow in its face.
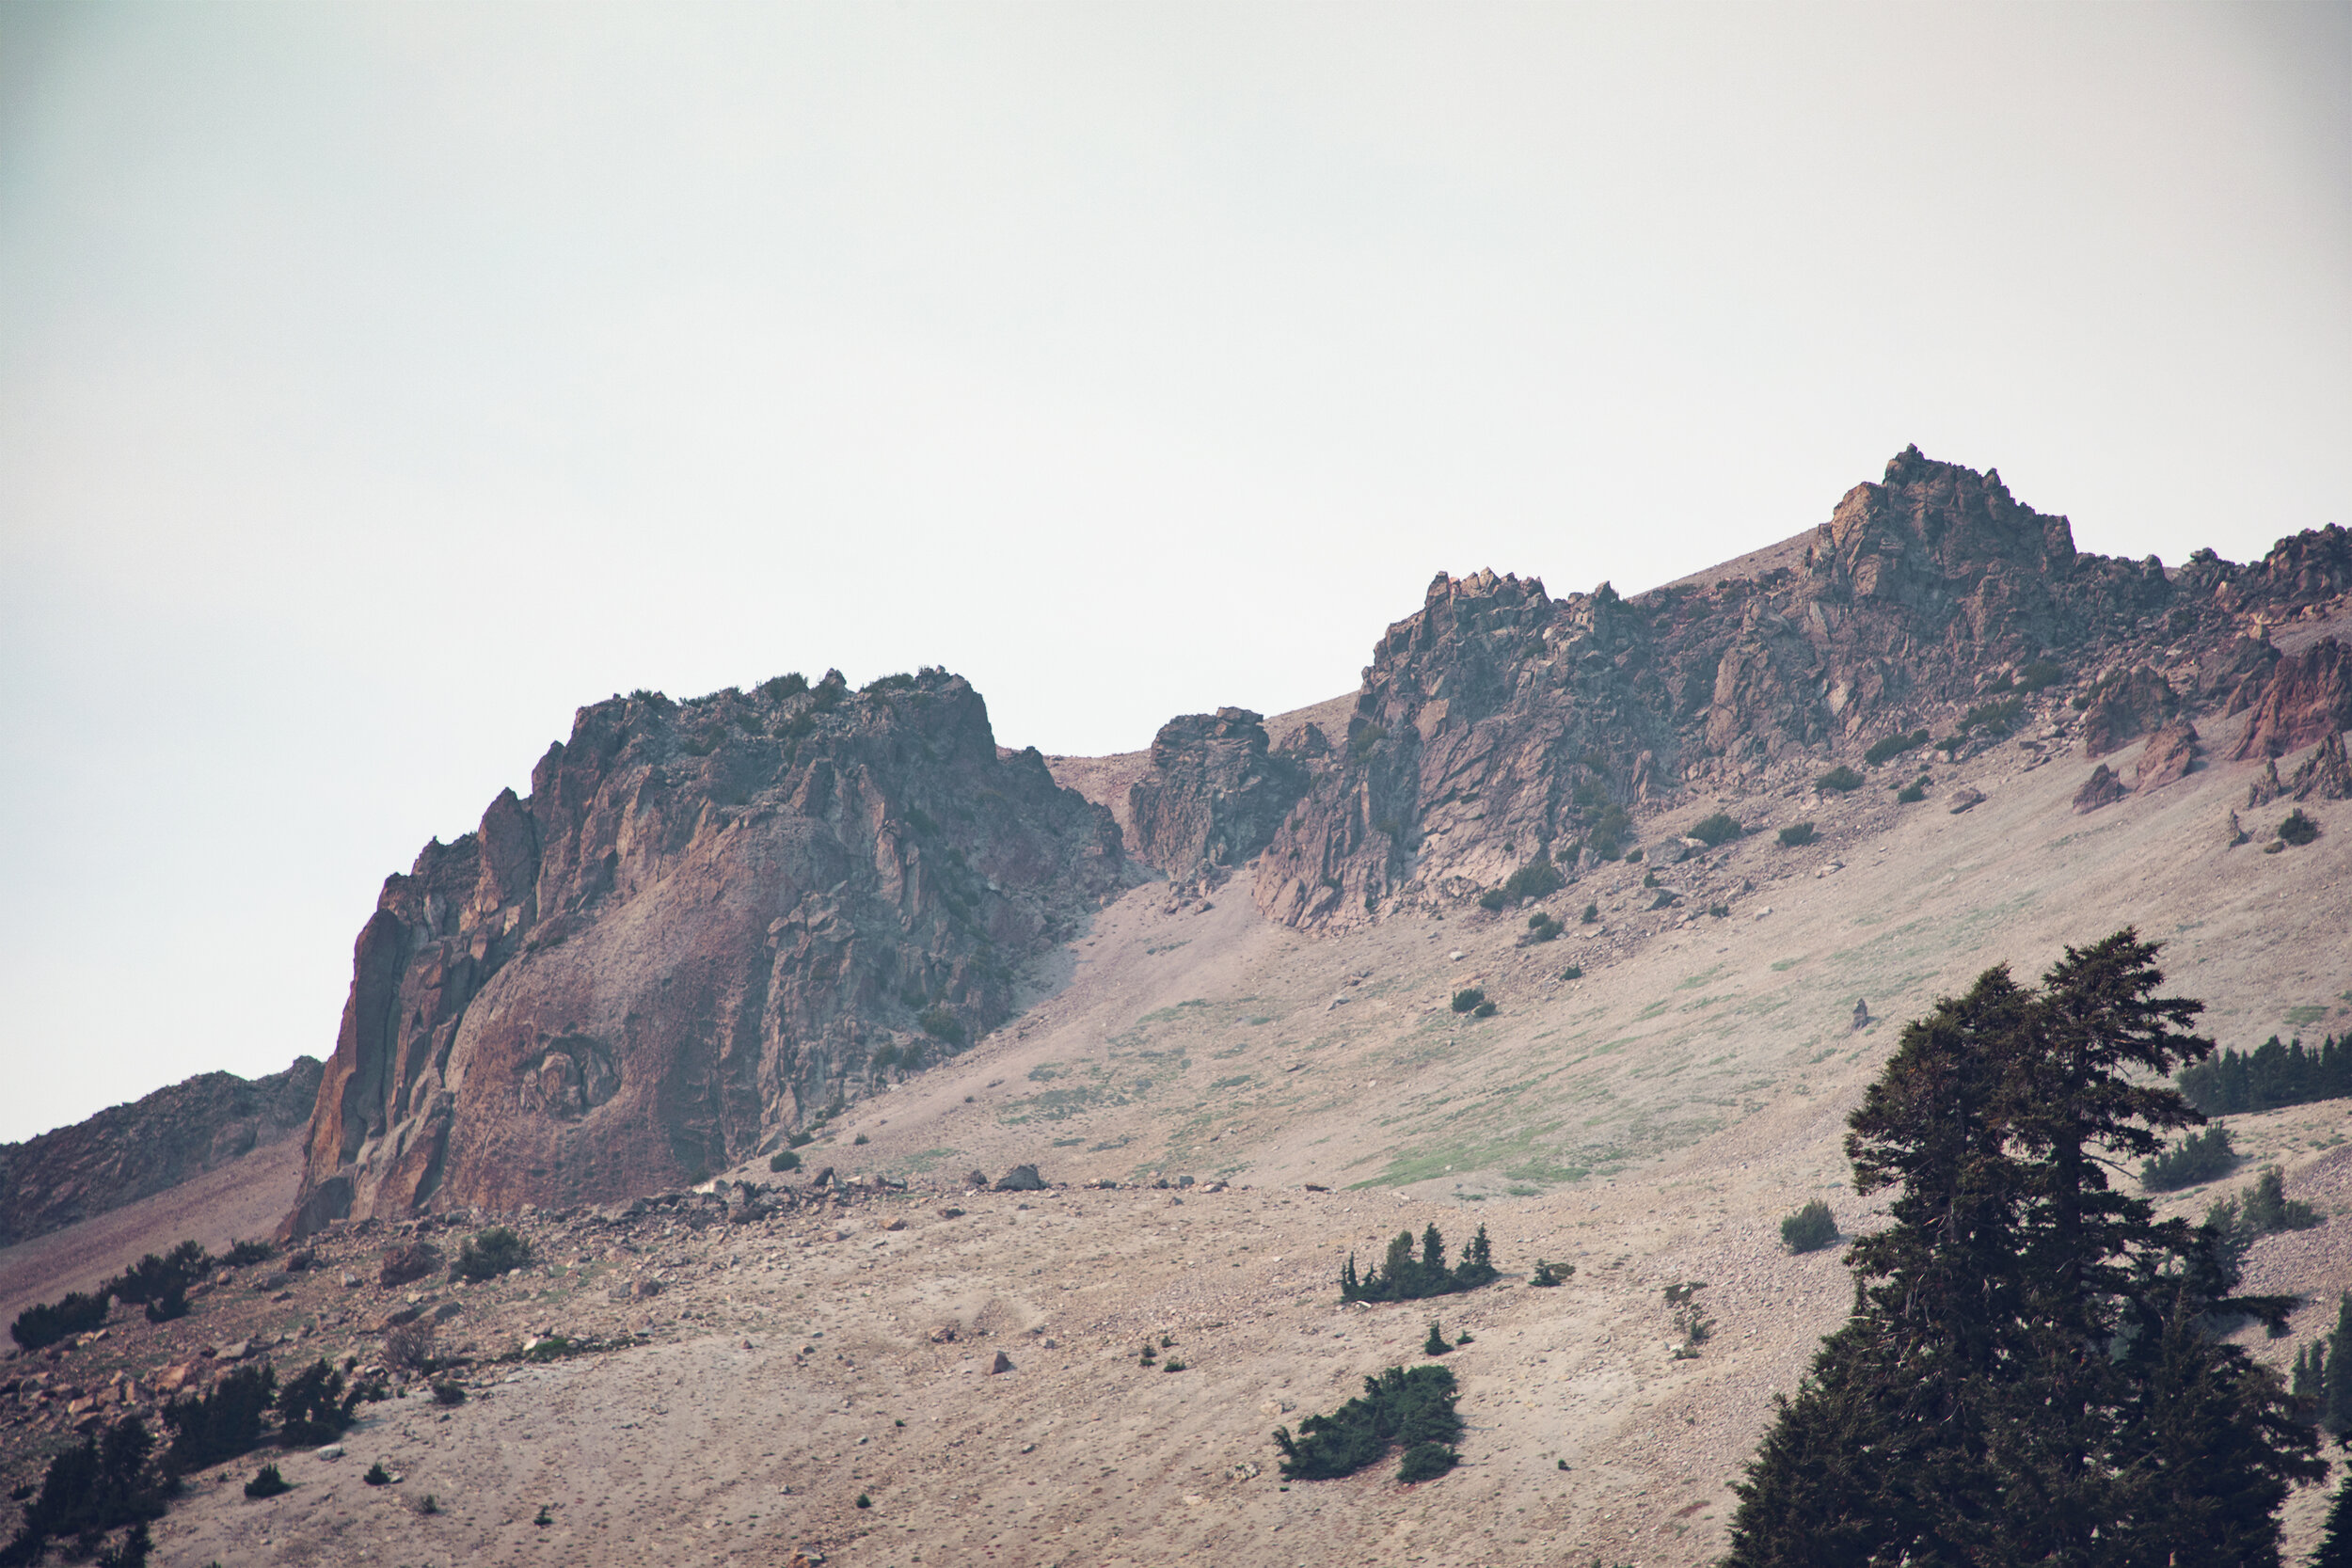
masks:
<svg viewBox="0 0 2352 1568"><path fill-rule="evenodd" d="M955 675L583 708L529 799L386 879L289 1229L724 1168L1004 1018L1120 867Z"/></svg>

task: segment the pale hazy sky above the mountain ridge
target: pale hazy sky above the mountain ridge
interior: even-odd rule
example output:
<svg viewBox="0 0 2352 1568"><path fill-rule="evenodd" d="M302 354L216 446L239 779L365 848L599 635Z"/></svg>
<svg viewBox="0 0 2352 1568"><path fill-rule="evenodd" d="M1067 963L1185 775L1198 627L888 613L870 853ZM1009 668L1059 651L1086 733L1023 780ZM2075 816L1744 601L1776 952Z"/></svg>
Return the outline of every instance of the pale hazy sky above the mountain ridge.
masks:
<svg viewBox="0 0 2352 1568"><path fill-rule="evenodd" d="M2352 9L0 9L0 1138L325 1056L633 686L1129 750L1905 442L2352 522Z"/></svg>

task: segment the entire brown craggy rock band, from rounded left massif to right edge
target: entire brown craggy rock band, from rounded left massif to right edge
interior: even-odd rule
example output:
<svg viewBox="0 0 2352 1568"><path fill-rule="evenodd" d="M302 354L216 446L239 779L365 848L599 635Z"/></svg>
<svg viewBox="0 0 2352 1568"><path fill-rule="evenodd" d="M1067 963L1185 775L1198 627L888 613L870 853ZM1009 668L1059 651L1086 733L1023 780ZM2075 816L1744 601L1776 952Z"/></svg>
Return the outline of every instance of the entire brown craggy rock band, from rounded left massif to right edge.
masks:
<svg viewBox="0 0 2352 1568"><path fill-rule="evenodd" d="M1959 762L2060 703L2086 759L2161 736L2084 811L2197 766L2197 715L2251 708L2239 752L2284 755L2352 724L2340 644L2281 646L2347 585L2343 529L2166 571L1907 449L1811 536L1632 599L1439 574L1338 717L1176 717L1143 757L1065 764L1091 806L1000 755L943 672L614 698L527 802L386 884L294 1229L621 1197L767 1150L1011 1016L1124 856L1190 893L1251 867L1268 919L1336 931L1548 891L1703 795L1875 743ZM2333 788L2312 766L2300 788Z"/></svg>

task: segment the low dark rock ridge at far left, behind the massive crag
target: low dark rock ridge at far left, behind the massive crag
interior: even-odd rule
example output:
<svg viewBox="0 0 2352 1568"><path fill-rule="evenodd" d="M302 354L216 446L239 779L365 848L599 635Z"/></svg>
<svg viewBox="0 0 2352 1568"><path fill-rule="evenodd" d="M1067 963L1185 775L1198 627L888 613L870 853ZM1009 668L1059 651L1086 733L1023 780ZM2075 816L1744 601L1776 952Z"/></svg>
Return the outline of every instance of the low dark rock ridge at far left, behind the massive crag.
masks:
<svg viewBox="0 0 2352 1568"><path fill-rule="evenodd" d="M310 1121L318 1081L315 1056L259 1079L200 1072L87 1121L0 1145L0 1246L136 1204L292 1138Z"/></svg>

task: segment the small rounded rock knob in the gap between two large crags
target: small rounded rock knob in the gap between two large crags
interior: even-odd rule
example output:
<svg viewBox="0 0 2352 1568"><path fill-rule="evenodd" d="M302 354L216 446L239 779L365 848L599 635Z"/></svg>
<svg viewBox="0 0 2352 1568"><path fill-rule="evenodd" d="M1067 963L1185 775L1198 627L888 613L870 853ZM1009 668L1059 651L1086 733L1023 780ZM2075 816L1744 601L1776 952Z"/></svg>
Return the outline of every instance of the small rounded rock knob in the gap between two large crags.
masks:
<svg viewBox="0 0 2352 1568"><path fill-rule="evenodd" d="M1322 731L1312 750L1327 750ZM1305 788L1305 759L1270 750L1261 715L1218 708L1169 719L1152 736L1150 776L1127 792L1127 851L1169 877L1221 875L1265 849Z"/></svg>

